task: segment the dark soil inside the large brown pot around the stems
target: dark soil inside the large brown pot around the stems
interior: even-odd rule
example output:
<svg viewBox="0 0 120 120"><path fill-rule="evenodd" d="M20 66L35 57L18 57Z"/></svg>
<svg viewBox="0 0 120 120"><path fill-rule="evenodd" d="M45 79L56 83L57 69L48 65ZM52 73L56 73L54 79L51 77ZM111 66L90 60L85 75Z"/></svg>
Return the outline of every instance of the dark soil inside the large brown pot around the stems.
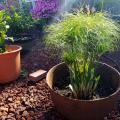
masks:
<svg viewBox="0 0 120 120"><path fill-rule="evenodd" d="M53 89L56 93L62 96L66 96L74 99L69 84L70 84L69 75L67 77L61 76L61 78L59 78L59 80L55 82ZM91 99L94 100L94 99L104 98L113 94L115 91L116 91L116 87L110 81L100 79L97 89Z"/></svg>

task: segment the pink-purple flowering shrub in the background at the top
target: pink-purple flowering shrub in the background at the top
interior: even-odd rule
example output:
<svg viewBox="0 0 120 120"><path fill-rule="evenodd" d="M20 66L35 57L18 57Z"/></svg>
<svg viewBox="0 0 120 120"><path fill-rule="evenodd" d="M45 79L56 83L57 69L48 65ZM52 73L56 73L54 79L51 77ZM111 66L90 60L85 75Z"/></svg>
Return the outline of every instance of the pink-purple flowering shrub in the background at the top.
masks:
<svg viewBox="0 0 120 120"><path fill-rule="evenodd" d="M32 10L33 18L50 18L57 13L60 0L37 0Z"/></svg>

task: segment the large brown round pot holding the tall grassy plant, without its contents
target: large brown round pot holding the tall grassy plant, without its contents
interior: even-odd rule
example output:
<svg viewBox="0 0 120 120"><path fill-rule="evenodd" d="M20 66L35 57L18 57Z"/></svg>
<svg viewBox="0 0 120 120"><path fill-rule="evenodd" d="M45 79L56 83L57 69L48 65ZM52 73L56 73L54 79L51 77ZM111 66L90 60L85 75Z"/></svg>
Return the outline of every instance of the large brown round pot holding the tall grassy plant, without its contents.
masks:
<svg viewBox="0 0 120 120"><path fill-rule="evenodd" d="M58 112L69 120L103 120L116 107L120 91L120 74L113 67L103 63L99 66L98 73L101 79L111 82L116 91L105 98L78 100L62 96L53 90L58 80L65 79L69 75L66 64L61 63L50 69L46 80Z"/></svg>

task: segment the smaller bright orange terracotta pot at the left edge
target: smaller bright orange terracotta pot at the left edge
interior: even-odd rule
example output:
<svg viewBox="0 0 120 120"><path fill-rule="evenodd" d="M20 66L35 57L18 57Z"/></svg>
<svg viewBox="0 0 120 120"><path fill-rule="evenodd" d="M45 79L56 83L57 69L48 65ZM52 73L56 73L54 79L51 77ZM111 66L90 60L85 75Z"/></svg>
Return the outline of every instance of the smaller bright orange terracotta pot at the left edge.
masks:
<svg viewBox="0 0 120 120"><path fill-rule="evenodd" d="M9 45L5 53L0 53L0 83L16 80L21 71L20 50L17 45Z"/></svg>

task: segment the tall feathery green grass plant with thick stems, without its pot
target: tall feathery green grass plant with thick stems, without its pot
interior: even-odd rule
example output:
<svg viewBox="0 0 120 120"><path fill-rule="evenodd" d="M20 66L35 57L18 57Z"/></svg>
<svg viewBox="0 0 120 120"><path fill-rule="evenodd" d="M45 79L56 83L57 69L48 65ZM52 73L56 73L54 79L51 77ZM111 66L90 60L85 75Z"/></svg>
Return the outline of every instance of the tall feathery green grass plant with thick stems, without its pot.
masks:
<svg viewBox="0 0 120 120"><path fill-rule="evenodd" d="M119 37L117 24L102 12L78 12L65 15L47 31L47 44L63 50L74 97L92 99L100 79L95 74L94 64L103 53L114 50L114 40Z"/></svg>

